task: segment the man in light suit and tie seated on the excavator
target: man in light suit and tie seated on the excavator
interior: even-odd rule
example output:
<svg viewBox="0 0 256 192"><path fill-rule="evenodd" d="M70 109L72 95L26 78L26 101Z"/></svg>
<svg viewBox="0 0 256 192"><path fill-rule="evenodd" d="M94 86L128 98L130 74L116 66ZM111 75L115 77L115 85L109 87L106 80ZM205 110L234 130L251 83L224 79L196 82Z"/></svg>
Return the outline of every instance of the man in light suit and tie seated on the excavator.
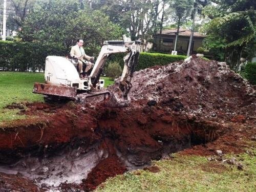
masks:
<svg viewBox="0 0 256 192"><path fill-rule="evenodd" d="M88 71L92 68L93 64L89 60L94 60L94 57L88 56L83 49L83 40L78 39L75 46L71 48L70 56L72 58L78 59L78 73L80 78L83 78L85 75L88 75ZM86 60L84 60L86 59ZM83 72L83 63L86 64L86 69Z"/></svg>

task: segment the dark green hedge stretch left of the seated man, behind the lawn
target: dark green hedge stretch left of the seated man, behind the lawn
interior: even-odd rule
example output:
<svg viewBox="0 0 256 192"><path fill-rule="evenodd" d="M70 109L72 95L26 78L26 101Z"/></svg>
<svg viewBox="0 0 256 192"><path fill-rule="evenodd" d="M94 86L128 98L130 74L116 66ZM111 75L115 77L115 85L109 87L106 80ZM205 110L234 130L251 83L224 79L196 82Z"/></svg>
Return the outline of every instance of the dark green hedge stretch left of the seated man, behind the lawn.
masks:
<svg viewBox="0 0 256 192"><path fill-rule="evenodd" d="M65 56L67 50L59 44L13 42L0 40L0 70L42 71L48 55Z"/></svg>

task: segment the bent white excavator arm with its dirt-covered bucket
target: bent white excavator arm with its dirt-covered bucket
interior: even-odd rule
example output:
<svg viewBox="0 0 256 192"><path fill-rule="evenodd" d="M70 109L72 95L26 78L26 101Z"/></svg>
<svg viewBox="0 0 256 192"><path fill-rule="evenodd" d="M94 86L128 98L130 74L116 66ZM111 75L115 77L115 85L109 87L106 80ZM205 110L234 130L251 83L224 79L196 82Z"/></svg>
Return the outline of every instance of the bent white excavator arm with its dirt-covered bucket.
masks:
<svg viewBox="0 0 256 192"><path fill-rule="evenodd" d="M129 92L132 88L132 77L139 58L140 41L105 41L101 47L99 56L95 62L93 70L90 74L89 87L92 89L99 81L99 77L103 71L106 58L111 54L127 53L123 58L124 67L121 77L115 82L115 87L111 90L109 105L112 107L123 107L130 104Z"/></svg>

